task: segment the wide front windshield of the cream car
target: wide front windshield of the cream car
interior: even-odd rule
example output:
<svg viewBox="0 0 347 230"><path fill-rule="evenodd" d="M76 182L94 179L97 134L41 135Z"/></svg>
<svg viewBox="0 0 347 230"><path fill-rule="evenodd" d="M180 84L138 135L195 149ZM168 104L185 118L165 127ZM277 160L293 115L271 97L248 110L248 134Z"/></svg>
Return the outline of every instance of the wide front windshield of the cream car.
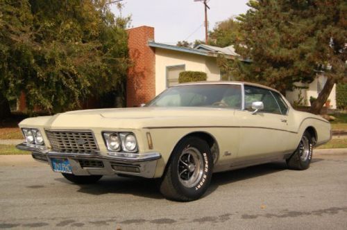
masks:
<svg viewBox="0 0 347 230"><path fill-rule="evenodd" d="M146 107L228 107L241 109L241 85L182 85L171 87Z"/></svg>

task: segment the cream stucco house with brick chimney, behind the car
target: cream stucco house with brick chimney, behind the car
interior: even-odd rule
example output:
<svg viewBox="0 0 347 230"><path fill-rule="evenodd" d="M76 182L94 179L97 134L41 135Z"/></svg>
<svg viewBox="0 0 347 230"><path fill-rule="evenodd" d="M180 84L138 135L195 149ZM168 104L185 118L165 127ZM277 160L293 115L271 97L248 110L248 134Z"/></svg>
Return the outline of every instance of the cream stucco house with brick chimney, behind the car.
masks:
<svg viewBox="0 0 347 230"><path fill-rule="evenodd" d="M196 48L188 48L154 42L154 28L149 26L128 30L128 48L135 63L128 73L128 107L146 103L167 87L178 84L178 76L182 71L203 71L207 73L207 80L221 80L218 55L231 60L238 56L232 46L220 48L201 44ZM287 91L286 97L293 104L301 95L303 103L309 106L310 96L316 98L324 84L325 77L317 75L310 84L297 84L307 89ZM329 96L332 109L336 109L335 94L334 87Z"/></svg>

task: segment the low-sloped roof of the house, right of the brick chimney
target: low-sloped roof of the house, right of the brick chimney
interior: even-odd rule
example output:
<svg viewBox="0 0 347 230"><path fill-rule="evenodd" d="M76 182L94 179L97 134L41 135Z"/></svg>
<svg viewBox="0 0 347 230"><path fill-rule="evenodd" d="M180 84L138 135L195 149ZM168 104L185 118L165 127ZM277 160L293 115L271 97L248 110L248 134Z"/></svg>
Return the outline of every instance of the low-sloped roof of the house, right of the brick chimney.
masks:
<svg viewBox="0 0 347 230"><path fill-rule="evenodd" d="M218 55L225 55L228 59L235 59L235 56L238 56L235 53L234 48L224 47L219 48L217 46L207 46L207 45L199 45L196 48L189 48L183 46L173 46L169 44L162 44L157 42L149 42L150 47L154 48L164 48L171 51L178 51L184 53L193 53L197 55L203 55L208 57L217 57Z"/></svg>

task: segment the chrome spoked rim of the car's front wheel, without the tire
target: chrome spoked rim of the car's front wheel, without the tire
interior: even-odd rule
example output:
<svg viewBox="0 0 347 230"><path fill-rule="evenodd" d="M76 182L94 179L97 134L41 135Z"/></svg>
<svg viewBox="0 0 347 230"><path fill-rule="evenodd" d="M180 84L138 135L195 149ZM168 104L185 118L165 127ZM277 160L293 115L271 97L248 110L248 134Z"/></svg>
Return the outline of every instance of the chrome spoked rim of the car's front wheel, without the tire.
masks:
<svg viewBox="0 0 347 230"><path fill-rule="evenodd" d="M178 161L178 179L183 186L192 188L203 175L203 157L196 148L186 148Z"/></svg>

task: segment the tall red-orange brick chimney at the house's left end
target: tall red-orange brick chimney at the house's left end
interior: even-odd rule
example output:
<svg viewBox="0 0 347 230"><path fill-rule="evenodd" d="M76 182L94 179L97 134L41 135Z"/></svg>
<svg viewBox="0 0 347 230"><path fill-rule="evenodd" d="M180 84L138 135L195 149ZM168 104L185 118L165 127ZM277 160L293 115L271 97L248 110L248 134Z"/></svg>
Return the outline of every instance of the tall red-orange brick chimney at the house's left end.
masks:
<svg viewBox="0 0 347 230"><path fill-rule="evenodd" d="M148 42L154 40L154 28L140 26L128 31L129 57L126 82L126 106L138 107L155 96L155 52Z"/></svg>

